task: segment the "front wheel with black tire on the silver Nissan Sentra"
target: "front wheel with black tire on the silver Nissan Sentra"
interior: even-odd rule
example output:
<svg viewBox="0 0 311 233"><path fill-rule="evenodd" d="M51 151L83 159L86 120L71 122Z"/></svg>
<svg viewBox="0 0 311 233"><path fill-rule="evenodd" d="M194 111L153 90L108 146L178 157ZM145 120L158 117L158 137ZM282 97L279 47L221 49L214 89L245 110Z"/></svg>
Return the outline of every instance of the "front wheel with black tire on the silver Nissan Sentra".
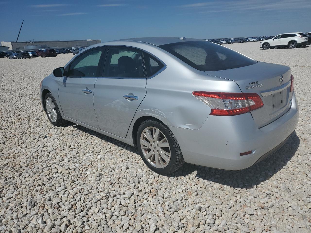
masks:
<svg viewBox="0 0 311 233"><path fill-rule="evenodd" d="M53 126L63 126L66 124L67 121L64 120L60 114L56 100L50 92L44 97L44 108L46 115Z"/></svg>

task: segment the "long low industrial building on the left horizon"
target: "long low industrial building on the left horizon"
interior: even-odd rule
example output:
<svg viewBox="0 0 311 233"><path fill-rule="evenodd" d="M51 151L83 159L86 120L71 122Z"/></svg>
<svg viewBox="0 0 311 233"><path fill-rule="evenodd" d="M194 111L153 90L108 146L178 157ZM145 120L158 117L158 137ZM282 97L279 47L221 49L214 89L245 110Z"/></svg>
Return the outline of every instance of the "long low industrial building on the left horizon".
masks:
<svg viewBox="0 0 311 233"><path fill-rule="evenodd" d="M9 47L9 50L29 49L29 46L35 48L71 48L71 47L87 47L93 44L101 43L101 40L44 40L44 41L1 41L1 46ZM26 48L25 48L26 47Z"/></svg>

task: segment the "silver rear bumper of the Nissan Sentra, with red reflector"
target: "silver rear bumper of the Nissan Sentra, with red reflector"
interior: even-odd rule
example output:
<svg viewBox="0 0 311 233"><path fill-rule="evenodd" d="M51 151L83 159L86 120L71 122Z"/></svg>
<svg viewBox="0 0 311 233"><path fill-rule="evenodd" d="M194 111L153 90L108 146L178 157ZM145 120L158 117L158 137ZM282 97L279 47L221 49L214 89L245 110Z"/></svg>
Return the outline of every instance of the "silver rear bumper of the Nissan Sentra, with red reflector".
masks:
<svg viewBox="0 0 311 233"><path fill-rule="evenodd" d="M276 121L258 128L251 113L209 116L198 130L170 127L185 162L224 170L242 170L273 154L298 124L299 109L293 94L290 109ZM240 157L240 153L252 151Z"/></svg>

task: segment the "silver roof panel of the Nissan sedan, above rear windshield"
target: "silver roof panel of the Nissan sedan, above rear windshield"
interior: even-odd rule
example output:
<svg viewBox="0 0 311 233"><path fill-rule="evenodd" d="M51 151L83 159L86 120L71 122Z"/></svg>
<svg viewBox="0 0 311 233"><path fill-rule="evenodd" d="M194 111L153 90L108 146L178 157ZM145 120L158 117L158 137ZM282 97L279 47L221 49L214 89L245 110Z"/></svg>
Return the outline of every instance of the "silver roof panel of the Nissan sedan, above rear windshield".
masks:
<svg viewBox="0 0 311 233"><path fill-rule="evenodd" d="M178 43L183 41L198 41L198 40L203 41L202 39L185 38L185 37L141 37L141 38L120 39L114 41L135 41L159 46L163 44Z"/></svg>

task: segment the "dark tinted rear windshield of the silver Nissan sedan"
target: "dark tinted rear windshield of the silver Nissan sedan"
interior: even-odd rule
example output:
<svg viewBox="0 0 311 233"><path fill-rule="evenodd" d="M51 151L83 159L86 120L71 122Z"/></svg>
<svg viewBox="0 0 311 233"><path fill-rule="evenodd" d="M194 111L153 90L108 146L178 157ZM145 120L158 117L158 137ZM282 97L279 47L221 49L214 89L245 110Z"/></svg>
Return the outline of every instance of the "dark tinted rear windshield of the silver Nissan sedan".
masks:
<svg viewBox="0 0 311 233"><path fill-rule="evenodd" d="M208 41L188 41L159 46L200 71L220 71L250 66L257 61Z"/></svg>

